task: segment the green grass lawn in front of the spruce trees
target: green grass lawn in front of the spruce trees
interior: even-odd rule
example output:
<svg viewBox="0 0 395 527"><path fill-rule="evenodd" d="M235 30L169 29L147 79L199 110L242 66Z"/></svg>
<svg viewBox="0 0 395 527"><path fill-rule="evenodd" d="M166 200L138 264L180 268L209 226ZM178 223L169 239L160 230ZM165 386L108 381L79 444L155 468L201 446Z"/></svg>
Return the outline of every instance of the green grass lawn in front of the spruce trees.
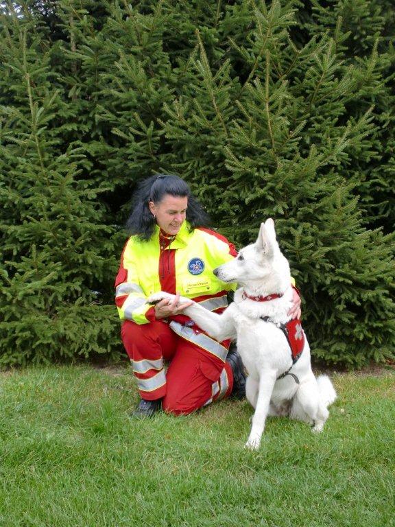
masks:
<svg viewBox="0 0 395 527"><path fill-rule="evenodd" d="M0 526L394 525L395 375L333 375L320 435L222 401L134 421L128 368L0 373Z"/></svg>

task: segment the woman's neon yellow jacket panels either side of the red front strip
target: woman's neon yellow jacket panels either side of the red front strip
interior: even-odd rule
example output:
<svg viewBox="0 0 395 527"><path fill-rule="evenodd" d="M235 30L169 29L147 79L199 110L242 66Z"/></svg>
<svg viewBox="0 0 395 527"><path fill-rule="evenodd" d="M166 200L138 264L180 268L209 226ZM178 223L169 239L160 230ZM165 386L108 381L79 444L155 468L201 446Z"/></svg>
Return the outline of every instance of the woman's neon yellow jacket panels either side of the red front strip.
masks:
<svg viewBox="0 0 395 527"><path fill-rule="evenodd" d="M226 307L226 292L235 290L236 284L220 281L213 269L235 257L235 248L214 231L199 228L189 231L189 224L184 222L163 251L160 250L158 226L147 242L137 236L126 242L115 281L115 300L121 320L133 320L137 324L149 322L146 314L151 306L146 299L162 290L159 270L163 267L163 259L160 264L160 257L169 250L175 253L176 291L187 298L201 299L202 305L210 310ZM170 260L167 262L169 264Z"/></svg>

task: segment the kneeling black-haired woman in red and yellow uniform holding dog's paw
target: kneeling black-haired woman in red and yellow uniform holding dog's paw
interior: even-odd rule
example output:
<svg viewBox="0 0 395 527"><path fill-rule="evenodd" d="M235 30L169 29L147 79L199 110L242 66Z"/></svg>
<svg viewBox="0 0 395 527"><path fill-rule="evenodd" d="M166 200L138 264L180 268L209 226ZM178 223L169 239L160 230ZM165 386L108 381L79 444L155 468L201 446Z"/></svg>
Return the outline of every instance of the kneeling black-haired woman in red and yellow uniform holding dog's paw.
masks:
<svg viewBox="0 0 395 527"><path fill-rule="evenodd" d="M121 337L141 396L134 417L151 417L161 406L189 414L211 401L245 395L236 349L228 351L229 341L203 333L182 314L186 304L178 307L182 294L222 312L228 292L236 288L212 272L237 255L235 247L207 224L202 207L178 176L152 176L139 186L115 281ZM176 294L175 300L147 304L147 296L160 290ZM299 298L296 309L298 303Z"/></svg>

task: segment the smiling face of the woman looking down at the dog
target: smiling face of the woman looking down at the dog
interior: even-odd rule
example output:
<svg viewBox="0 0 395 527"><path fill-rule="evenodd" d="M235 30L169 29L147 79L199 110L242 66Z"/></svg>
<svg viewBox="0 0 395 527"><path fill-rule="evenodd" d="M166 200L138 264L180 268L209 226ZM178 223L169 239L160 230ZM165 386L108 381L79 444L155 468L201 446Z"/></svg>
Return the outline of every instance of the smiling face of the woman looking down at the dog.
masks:
<svg viewBox="0 0 395 527"><path fill-rule="evenodd" d="M160 229L170 235L180 231L187 216L188 196L171 196L165 194L158 203L149 202L149 210L156 216L156 223Z"/></svg>

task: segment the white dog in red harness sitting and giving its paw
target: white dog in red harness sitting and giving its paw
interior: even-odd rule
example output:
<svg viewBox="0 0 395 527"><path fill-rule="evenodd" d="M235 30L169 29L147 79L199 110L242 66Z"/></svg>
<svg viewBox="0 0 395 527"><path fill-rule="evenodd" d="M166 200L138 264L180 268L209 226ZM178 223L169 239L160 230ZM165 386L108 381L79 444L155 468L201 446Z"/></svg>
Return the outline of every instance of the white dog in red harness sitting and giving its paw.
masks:
<svg viewBox="0 0 395 527"><path fill-rule="evenodd" d="M336 399L326 375L315 378L310 348L300 321L289 323L292 305L291 273L276 240L274 221L261 224L258 239L240 250L232 261L214 274L224 282L242 287L235 301L222 314L193 303L184 309L195 323L216 340L237 339L248 371L246 397L255 408L246 447L258 449L267 415L289 415L321 432L328 419L328 406ZM156 302L173 295L160 292L149 297ZM180 297L180 303L190 302ZM299 344L299 349L292 349Z"/></svg>

